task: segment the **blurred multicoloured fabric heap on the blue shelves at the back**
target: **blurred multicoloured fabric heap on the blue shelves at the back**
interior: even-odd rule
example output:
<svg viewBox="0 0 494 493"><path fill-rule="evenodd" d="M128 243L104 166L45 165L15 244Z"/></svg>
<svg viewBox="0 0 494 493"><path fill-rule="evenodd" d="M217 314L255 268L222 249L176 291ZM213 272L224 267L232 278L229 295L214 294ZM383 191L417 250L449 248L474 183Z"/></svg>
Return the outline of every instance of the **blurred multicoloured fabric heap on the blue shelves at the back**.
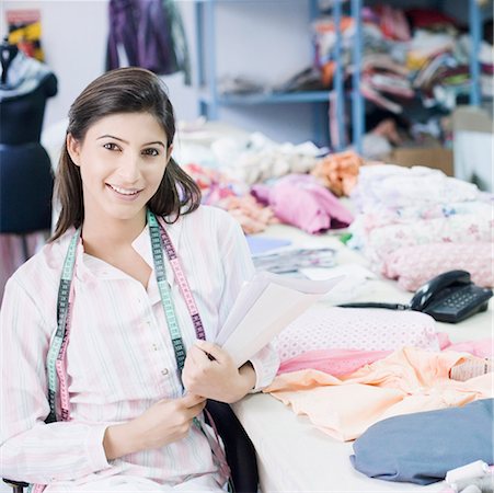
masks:
<svg viewBox="0 0 494 493"><path fill-rule="evenodd" d="M415 96L425 107L452 110L459 94L468 93L469 59L479 58L482 72L492 74L492 44L482 42L480 53L473 54L463 26L451 16L435 9L402 10L390 5L365 7L363 16L364 98L392 113L403 112L406 100ZM333 82L334 66L345 65L351 76L355 23L343 16L342 49L335 59L336 28L332 16L314 23L315 64L324 85ZM485 89L489 92L490 88Z"/></svg>

